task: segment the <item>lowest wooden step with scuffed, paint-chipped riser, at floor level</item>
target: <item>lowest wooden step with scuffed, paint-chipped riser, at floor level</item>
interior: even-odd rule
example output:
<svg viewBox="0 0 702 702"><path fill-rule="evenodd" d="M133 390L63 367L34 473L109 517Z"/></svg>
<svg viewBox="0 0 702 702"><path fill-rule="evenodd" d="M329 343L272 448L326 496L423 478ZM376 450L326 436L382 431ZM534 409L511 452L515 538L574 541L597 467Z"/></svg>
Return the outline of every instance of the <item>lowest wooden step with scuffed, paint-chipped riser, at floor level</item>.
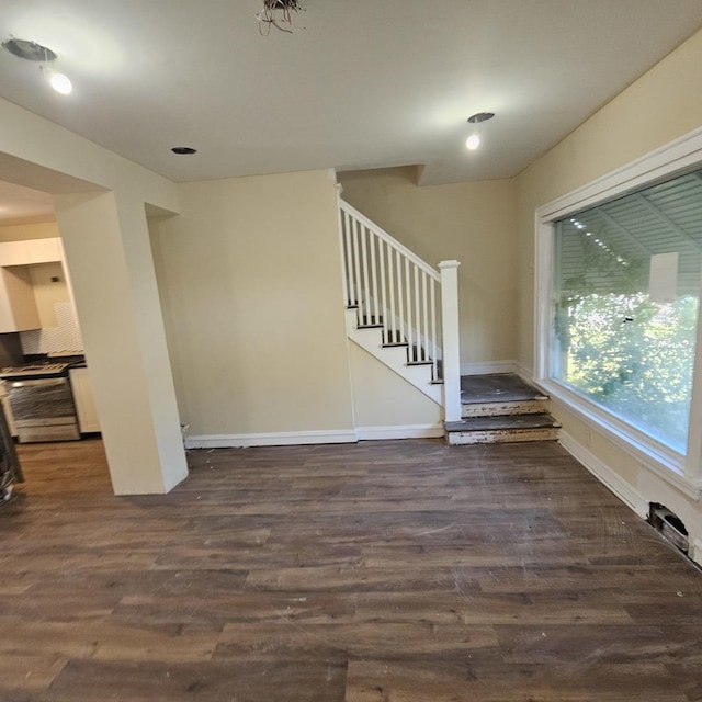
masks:
<svg viewBox="0 0 702 702"><path fill-rule="evenodd" d="M446 439L452 445L555 441L559 427L561 423L547 414L471 417L444 423Z"/></svg>

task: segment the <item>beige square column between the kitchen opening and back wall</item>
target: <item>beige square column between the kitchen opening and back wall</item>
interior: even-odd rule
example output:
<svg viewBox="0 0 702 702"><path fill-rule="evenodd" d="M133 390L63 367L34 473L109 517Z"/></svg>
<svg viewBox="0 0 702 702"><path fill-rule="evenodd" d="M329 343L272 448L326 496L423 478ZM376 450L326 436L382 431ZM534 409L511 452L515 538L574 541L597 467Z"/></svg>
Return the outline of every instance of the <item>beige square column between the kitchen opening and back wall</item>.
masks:
<svg viewBox="0 0 702 702"><path fill-rule="evenodd" d="M129 193L56 195L116 495L188 475L145 204Z"/></svg>

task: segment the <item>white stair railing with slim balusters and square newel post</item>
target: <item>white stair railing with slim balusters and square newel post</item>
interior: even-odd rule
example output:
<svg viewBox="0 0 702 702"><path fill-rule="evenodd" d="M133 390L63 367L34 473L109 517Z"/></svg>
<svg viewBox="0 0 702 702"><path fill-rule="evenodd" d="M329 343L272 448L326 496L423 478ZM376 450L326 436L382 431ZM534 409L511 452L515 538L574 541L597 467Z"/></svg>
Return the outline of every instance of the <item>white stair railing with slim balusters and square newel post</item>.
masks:
<svg viewBox="0 0 702 702"><path fill-rule="evenodd" d="M431 365L446 420L460 419L457 261L437 271L343 200L339 207L346 306L358 308L359 326L381 328L384 346L407 344L409 365Z"/></svg>

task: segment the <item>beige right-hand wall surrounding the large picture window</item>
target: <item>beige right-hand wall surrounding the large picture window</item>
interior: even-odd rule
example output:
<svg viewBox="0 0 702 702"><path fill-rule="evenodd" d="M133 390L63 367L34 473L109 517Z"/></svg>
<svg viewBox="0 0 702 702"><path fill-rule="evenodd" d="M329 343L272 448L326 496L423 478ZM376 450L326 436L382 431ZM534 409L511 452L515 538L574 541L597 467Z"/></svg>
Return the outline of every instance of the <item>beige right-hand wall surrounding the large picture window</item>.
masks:
<svg viewBox="0 0 702 702"><path fill-rule="evenodd" d="M517 179L520 279L520 360L534 363L534 211L702 125L702 33L695 34ZM702 510L620 446L556 404L564 432L607 466L620 492L676 511L702 539ZM700 428L692 427L692 431ZM702 553L698 556L702 557Z"/></svg>

